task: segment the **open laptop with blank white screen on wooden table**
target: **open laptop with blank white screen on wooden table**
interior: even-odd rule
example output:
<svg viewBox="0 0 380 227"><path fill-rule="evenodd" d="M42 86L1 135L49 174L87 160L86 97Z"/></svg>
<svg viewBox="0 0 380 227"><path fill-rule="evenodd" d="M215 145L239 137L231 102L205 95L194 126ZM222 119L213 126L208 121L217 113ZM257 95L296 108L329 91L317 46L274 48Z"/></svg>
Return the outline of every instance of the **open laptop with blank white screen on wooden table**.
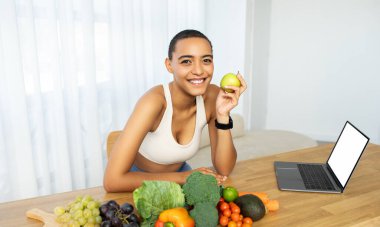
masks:
<svg viewBox="0 0 380 227"><path fill-rule="evenodd" d="M275 161L279 189L342 193L368 142L369 138L347 121L326 163Z"/></svg>

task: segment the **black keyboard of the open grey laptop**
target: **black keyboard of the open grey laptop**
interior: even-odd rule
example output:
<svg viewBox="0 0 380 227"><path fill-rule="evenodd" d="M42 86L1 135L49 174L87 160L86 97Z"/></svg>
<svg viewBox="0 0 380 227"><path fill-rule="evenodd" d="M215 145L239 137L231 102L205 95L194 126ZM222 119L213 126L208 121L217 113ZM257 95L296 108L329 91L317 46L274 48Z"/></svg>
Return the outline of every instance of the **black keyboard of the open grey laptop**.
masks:
<svg viewBox="0 0 380 227"><path fill-rule="evenodd" d="M331 191L334 186L321 165L297 164L306 189Z"/></svg>

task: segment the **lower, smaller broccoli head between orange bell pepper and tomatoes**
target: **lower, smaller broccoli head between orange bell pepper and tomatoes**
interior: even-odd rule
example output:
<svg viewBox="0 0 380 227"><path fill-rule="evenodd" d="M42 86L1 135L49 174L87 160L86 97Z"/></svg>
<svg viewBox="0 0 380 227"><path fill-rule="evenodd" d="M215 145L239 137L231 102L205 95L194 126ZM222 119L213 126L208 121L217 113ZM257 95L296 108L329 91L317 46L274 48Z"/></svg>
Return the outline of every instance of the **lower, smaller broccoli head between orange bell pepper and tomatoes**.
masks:
<svg viewBox="0 0 380 227"><path fill-rule="evenodd" d="M194 218L197 227L214 227L219 221L218 210L210 202L195 204L190 216Z"/></svg>

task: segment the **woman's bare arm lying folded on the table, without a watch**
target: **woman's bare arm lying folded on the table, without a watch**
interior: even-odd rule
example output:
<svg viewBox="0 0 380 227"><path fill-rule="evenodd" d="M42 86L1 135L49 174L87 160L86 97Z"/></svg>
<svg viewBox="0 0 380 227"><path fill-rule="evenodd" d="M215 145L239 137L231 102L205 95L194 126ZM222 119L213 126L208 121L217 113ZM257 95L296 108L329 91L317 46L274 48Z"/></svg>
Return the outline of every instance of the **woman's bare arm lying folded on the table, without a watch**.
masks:
<svg viewBox="0 0 380 227"><path fill-rule="evenodd" d="M148 92L138 101L108 159L103 182L106 191L132 191L144 180L170 180L178 183L186 180L190 173L129 172L144 137L153 128L163 108L162 98L154 92Z"/></svg>

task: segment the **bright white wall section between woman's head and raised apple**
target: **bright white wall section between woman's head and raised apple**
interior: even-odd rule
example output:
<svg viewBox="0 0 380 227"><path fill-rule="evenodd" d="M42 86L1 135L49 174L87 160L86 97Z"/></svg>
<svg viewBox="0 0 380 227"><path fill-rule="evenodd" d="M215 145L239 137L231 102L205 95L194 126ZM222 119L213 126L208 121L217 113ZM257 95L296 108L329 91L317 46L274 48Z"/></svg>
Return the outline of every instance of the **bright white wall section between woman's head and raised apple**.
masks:
<svg viewBox="0 0 380 227"><path fill-rule="evenodd" d="M206 35L213 44L214 76L218 84L226 73L244 75L246 0L207 0ZM246 94L241 97L244 103ZM233 112L243 114L244 105L239 104Z"/></svg>

